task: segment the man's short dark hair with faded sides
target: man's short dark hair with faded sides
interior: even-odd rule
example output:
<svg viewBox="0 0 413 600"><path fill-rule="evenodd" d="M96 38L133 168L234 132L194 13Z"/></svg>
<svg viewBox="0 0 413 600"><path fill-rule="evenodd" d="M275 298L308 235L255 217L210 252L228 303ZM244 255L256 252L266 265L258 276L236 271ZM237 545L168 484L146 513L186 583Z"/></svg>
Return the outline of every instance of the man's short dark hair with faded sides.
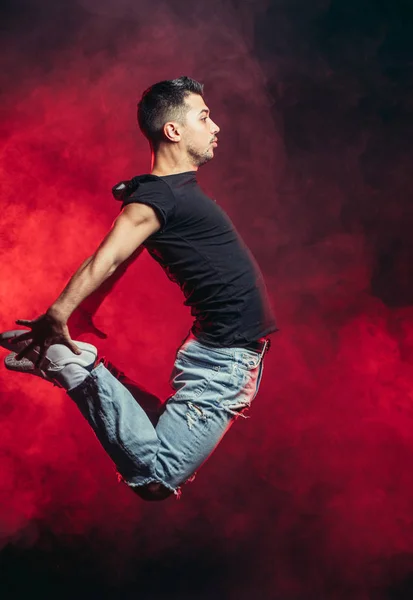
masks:
<svg viewBox="0 0 413 600"><path fill-rule="evenodd" d="M202 83L190 77L159 81L145 90L138 102L138 123L143 135L156 145L168 121L184 122L187 112L185 98L189 94L203 96Z"/></svg>

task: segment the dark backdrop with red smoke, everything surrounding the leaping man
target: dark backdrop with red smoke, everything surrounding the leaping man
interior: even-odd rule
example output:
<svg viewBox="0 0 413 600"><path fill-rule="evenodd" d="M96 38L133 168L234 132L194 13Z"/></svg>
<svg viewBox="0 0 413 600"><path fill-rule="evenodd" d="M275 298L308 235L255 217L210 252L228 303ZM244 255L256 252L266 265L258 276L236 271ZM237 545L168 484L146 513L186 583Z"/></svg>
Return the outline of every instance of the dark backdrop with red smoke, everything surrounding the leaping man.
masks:
<svg viewBox="0 0 413 600"><path fill-rule="evenodd" d="M412 598L412 2L2 0L0 30L1 329L93 252L150 168L137 100L183 74L280 326L179 501L137 499L68 397L1 369L1 597ZM96 324L165 399L190 315L149 257Z"/></svg>

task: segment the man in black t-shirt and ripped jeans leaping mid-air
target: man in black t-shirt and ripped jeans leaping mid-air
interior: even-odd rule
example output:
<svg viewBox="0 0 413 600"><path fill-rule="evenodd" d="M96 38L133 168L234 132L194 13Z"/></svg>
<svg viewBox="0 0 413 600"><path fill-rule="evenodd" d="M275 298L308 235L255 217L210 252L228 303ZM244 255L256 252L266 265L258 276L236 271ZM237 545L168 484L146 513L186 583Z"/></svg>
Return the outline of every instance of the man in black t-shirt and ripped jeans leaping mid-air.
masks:
<svg viewBox="0 0 413 600"><path fill-rule="evenodd" d="M219 127L203 86L181 77L146 90L138 122L152 152L151 173L121 182L122 211L99 248L73 275L31 331L1 334L15 350L10 370L67 390L122 479L142 498L179 496L181 485L215 449L260 385L268 334L276 331L261 273L224 211L200 189L198 168L211 160ZM174 394L155 424L119 374L74 342L72 312L144 247L178 283L195 317L179 348Z"/></svg>

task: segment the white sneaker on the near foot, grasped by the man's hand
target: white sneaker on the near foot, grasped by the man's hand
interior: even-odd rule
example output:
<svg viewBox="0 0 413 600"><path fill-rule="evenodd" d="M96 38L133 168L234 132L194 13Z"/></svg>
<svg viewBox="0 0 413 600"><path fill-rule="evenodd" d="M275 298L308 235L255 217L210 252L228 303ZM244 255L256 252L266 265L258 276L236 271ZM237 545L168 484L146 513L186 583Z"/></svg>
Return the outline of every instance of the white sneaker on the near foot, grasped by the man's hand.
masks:
<svg viewBox="0 0 413 600"><path fill-rule="evenodd" d="M12 332L6 332L12 333ZM15 333L15 332L14 332ZM20 332L19 332L20 334ZM0 341L0 345L3 347L7 347L5 344L7 343L5 334L1 334L2 340ZM14 336L9 336L15 337ZM30 342L23 341L18 344L10 344L10 346L17 350L16 352L12 352L4 359L4 365L6 369L9 371L18 371L20 373L29 373L30 375L37 375L37 377L41 377L42 379L46 379L47 381L51 381L55 385L59 387L63 387L57 380L56 375L69 364L76 364L84 369L92 370L93 365L95 364L97 358L97 348L92 346L92 344L87 344L86 342L77 342L75 344L82 351L81 354L74 354L64 344L53 344L48 348L46 355L42 361L42 368L39 369L36 367L36 361L39 358L39 351L36 348L30 350L26 357L23 357L21 360L16 360L16 354L18 354L23 348L25 348ZM17 348L16 348L17 346Z"/></svg>

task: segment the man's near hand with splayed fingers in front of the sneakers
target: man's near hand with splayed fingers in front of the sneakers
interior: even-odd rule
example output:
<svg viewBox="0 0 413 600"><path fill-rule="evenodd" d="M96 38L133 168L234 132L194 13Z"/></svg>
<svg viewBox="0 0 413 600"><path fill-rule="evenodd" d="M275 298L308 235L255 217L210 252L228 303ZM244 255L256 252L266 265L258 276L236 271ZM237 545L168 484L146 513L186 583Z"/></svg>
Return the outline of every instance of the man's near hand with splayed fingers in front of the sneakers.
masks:
<svg viewBox="0 0 413 600"><path fill-rule="evenodd" d="M70 350L75 354L81 354L81 350L76 346L70 337L66 322L49 313L41 315L33 321L18 319L16 323L18 325L30 327L31 331L15 337L12 343L32 340L31 343L26 346L26 348L17 354L16 360L21 360L31 350L33 350L33 348L38 347L39 358L36 361L36 367L39 368L43 362L48 348L52 344L64 344L65 346L68 346L68 348L70 348Z"/></svg>

